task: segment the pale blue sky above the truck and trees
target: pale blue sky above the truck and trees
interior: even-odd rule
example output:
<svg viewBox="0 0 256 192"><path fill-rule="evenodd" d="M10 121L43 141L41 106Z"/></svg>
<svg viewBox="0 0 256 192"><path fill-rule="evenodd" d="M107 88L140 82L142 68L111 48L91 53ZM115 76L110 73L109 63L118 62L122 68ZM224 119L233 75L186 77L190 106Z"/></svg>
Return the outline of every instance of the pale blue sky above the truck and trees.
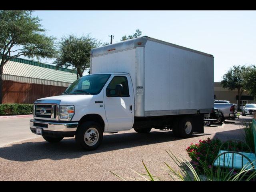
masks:
<svg viewBox="0 0 256 192"><path fill-rule="evenodd" d="M212 54L214 82L233 65L256 64L256 11L35 11L58 40L69 34L113 43L134 34ZM43 59L41 62L53 60Z"/></svg>

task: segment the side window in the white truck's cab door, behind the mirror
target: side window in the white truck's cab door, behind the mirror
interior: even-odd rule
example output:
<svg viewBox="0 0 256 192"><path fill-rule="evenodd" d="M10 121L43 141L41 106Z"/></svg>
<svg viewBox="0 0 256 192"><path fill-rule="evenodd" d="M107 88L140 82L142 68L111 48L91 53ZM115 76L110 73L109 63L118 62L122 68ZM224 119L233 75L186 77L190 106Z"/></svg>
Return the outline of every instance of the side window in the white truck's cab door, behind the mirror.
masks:
<svg viewBox="0 0 256 192"><path fill-rule="evenodd" d="M129 87L128 80L124 76L115 76L111 82L108 84L106 89L106 95L108 97L120 97L116 95L116 85L121 84L123 87L122 96L121 97L130 97L129 95Z"/></svg>

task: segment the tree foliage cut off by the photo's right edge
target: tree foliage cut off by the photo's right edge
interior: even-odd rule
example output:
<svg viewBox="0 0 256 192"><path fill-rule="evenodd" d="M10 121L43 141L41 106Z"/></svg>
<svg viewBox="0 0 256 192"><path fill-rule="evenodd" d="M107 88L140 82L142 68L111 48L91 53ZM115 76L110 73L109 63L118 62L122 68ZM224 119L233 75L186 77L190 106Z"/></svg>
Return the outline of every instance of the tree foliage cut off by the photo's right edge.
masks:
<svg viewBox="0 0 256 192"><path fill-rule="evenodd" d="M245 74L245 88L250 95L256 98L256 66L252 65L248 72Z"/></svg>

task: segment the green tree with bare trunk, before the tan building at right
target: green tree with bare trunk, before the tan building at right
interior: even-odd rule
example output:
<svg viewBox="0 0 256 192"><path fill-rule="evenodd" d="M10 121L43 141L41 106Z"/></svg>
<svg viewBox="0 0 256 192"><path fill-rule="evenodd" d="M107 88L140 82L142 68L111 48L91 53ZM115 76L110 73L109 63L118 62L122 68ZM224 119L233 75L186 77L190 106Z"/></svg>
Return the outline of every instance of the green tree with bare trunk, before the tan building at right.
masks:
<svg viewBox="0 0 256 192"><path fill-rule="evenodd" d="M246 90L245 86L245 75L250 70L250 67L246 66L233 66L226 74L222 77L221 84L224 88L229 90L238 91L238 109L240 109L240 100L242 93Z"/></svg>

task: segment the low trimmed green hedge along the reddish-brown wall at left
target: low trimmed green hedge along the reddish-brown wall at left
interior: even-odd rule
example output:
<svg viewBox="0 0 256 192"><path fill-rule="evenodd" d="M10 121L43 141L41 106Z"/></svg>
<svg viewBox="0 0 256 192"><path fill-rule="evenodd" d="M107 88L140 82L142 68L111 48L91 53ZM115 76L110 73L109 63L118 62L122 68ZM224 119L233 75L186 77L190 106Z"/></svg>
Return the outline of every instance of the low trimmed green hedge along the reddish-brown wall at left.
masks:
<svg viewBox="0 0 256 192"><path fill-rule="evenodd" d="M0 104L0 115L32 114L33 104Z"/></svg>

